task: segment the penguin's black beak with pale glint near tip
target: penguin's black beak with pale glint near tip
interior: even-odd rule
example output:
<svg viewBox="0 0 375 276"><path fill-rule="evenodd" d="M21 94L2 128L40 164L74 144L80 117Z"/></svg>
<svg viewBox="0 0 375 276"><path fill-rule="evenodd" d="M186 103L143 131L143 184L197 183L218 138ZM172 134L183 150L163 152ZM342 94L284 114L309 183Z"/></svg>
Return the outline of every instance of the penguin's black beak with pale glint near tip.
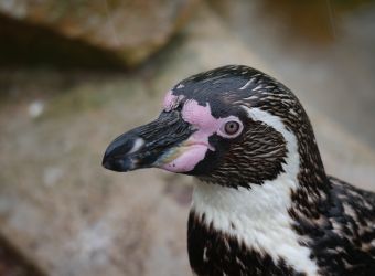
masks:
<svg viewBox="0 0 375 276"><path fill-rule="evenodd" d="M179 112L163 112L158 119L117 137L104 155L103 167L113 171L154 167L163 153L192 132Z"/></svg>

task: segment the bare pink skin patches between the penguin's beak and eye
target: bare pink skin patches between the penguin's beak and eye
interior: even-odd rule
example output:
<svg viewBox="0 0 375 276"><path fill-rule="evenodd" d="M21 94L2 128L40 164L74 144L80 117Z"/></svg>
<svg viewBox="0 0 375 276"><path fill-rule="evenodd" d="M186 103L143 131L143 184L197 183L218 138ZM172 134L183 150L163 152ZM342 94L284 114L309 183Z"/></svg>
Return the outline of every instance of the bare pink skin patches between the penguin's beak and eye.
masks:
<svg viewBox="0 0 375 276"><path fill-rule="evenodd" d="M164 108L172 107L173 100L176 96L170 92L164 99ZM215 151L210 145L208 138L213 134L218 132L221 126L228 120L239 119L235 116L226 118L215 118L212 116L210 104L206 106L199 105L194 99L189 99L182 107L182 118L190 123L196 131L182 145L172 148L168 157L162 161L167 161L160 168L172 172L188 172L195 168L195 166L202 161L207 150ZM172 158L172 160L171 160Z"/></svg>

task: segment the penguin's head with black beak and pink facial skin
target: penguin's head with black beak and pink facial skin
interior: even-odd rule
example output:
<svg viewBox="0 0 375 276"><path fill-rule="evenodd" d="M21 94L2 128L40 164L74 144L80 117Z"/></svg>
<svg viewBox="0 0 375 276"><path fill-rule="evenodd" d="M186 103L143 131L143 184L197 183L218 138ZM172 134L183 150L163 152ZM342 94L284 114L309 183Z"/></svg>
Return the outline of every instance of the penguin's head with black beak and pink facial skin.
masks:
<svg viewBox="0 0 375 276"><path fill-rule="evenodd" d="M103 166L114 171L160 168L248 187L282 172L296 174L301 155L310 150L319 156L297 97L257 70L228 65L178 83L156 120L108 146Z"/></svg>

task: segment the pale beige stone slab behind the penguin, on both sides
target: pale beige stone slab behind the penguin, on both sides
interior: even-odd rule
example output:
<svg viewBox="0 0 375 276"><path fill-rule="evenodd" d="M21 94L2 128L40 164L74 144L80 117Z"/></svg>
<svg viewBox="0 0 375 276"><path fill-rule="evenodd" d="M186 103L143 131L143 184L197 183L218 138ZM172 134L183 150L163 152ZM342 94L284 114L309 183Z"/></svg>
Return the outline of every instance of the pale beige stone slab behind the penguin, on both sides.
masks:
<svg viewBox="0 0 375 276"><path fill-rule="evenodd" d="M250 50L201 4L180 41L137 74L0 72L8 95L0 105L0 232L50 275L190 275L192 179L114 173L101 168L103 151L158 116L163 94L190 74L240 63L282 75ZM35 103L43 108L30 113ZM302 103L328 171L375 190L374 150Z"/></svg>

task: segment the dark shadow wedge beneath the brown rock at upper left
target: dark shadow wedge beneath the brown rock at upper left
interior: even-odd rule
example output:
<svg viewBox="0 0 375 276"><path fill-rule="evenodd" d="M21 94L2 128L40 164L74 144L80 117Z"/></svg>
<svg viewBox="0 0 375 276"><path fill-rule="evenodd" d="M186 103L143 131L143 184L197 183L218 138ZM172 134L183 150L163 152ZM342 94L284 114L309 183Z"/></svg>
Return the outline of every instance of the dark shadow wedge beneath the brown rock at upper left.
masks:
<svg viewBox="0 0 375 276"><path fill-rule="evenodd" d="M115 53L0 14L0 67L124 70Z"/></svg>

